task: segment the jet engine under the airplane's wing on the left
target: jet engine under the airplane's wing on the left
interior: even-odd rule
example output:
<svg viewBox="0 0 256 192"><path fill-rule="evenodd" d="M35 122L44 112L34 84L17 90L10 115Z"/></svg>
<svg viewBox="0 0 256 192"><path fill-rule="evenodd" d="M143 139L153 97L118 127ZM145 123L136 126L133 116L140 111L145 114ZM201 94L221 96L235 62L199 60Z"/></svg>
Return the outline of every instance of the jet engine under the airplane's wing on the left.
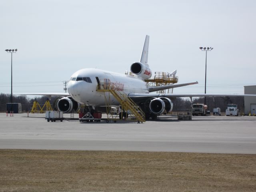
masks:
<svg viewBox="0 0 256 192"><path fill-rule="evenodd" d="M62 97L57 102L59 111L70 113L72 110L77 111L80 108L80 103L76 102L72 97Z"/></svg>

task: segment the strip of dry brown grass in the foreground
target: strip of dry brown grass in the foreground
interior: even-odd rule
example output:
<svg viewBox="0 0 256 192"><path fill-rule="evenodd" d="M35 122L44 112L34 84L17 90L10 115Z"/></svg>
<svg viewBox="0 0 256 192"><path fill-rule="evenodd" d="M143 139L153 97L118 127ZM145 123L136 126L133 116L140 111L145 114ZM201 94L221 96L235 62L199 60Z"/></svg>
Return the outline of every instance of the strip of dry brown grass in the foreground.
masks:
<svg viewBox="0 0 256 192"><path fill-rule="evenodd" d="M256 155L0 150L0 191L256 191Z"/></svg>

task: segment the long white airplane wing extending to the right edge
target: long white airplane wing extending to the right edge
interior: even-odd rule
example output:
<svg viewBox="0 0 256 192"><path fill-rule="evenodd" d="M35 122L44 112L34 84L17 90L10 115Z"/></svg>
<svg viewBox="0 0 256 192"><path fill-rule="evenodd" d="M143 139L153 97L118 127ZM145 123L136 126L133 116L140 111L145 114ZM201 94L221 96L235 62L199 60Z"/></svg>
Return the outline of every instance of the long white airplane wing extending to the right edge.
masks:
<svg viewBox="0 0 256 192"><path fill-rule="evenodd" d="M130 93L128 96L134 101L134 102L140 102L144 101L148 98L151 97L167 97L167 98L175 98L175 97L237 97L237 96L254 96L256 95L251 95L251 94L154 94L154 93Z"/></svg>

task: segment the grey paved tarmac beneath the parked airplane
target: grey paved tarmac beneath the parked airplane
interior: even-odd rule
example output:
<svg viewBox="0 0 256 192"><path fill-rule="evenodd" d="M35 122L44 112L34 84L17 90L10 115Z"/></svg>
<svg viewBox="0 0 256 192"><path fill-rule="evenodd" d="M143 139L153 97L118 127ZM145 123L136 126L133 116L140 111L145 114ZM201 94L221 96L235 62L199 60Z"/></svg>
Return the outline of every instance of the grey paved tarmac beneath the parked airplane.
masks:
<svg viewBox="0 0 256 192"><path fill-rule="evenodd" d="M45 114L0 113L0 148L256 154L256 116L166 115L143 124L64 117L47 122Z"/></svg>

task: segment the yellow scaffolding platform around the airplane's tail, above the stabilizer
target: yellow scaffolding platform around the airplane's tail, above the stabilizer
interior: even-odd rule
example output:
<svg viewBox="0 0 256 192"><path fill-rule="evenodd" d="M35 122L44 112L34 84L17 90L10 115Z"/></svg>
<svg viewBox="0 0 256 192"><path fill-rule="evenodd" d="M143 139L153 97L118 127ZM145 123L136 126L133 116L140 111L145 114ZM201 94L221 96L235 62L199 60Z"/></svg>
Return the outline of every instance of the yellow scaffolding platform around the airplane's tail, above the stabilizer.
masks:
<svg viewBox="0 0 256 192"><path fill-rule="evenodd" d="M167 76L166 72L155 72L154 78L146 79L148 86L171 85L178 82L177 76ZM173 89L168 89L167 93L172 93ZM166 90L157 91L157 93L166 93Z"/></svg>

